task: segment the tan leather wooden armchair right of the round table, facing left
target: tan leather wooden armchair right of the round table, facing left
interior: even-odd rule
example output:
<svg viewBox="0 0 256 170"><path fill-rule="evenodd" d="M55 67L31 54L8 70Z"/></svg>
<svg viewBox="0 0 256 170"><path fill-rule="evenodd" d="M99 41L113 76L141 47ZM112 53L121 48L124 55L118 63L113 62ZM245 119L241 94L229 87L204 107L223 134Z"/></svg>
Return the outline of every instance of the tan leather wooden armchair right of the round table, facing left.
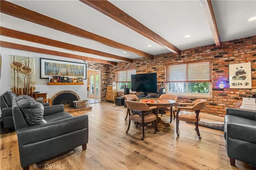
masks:
<svg viewBox="0 0 256 170"><path fill-rule="evenodd" d="M200 133L199 133L199 128L198 128L198 121L200 121L199 113L200 113L200 110L204 109L204 106L206 105L206 102L207 102L207 100L198 99L198 100L193 102L194 105L192 105L193 103L189 104L189 107L188 106L187 107L185 107L185 106L177 107L178 108L178 111L176 113L176 133L177 133L177 136L180 135L178 133L178 127L179 127L179 123L180 123L180 120L181 120L181 121L194 122L195 126L196 126L195 130L196 130L196 133L198 135L198 138L201 139L201 136L200 136ZM184 103L183 103L183 105L184 105ZM195 113L179 114L180 109L193 110L193 111L195 111Z"/></svg>

